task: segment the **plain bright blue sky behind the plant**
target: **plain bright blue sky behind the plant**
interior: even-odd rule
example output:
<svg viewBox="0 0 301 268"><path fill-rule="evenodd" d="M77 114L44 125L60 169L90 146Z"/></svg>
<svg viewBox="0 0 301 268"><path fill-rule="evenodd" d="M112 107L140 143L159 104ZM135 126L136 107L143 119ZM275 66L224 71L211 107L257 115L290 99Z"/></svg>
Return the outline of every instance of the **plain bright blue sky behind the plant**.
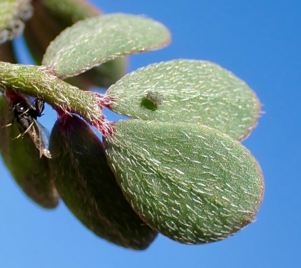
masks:
<svg viewBox="0 0 301 268"><path fill-rule="evenodd" d="M189 246L159 235L142 252L85 229L61 202L29 201L0 163L0 267L300 267L301 2L94 0L105 13L145 14L164 23L172 43L130 57L129 71L170 59L205 59L253 88L265 114L243 144L259 161L265 197L257 221L220 242ZM20 51L22 39L15 44ZM22 63L30 63L25 52ZM107 113L110 120L120 117ZM41 123L51 129L51 108Z"/></svg>

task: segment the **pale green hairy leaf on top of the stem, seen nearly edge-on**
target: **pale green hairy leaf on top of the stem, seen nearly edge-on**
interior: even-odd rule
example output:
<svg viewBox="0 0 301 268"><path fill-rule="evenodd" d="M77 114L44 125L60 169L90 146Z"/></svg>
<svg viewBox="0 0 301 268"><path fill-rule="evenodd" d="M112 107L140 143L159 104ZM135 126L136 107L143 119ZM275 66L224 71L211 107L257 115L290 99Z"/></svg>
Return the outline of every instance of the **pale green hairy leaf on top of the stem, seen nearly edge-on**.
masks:
<svg viewBox="0 0 301 268"><path fill-rule="evenodd" d="M117 56L159 49L170 42L165 26L127 14L79 21L64 30L46 50L42 64L60 78L75 76Z"/></svg>

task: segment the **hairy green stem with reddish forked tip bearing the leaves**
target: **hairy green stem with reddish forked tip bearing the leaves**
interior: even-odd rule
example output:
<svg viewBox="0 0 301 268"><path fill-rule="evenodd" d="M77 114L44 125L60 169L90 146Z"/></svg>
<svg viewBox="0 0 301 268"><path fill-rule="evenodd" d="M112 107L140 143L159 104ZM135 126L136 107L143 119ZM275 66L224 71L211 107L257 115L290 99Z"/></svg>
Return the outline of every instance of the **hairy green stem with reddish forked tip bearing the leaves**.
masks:
<svg viewBox="0 0 301 268"><path fill-rule="evenodd" d="M112 124L104 119L102 112L102 107L113 102L111 97L73 87L45 66L0 62L0 91L41 97L59 116L78 114L103 136L110 136L113 132Z"/></svg>

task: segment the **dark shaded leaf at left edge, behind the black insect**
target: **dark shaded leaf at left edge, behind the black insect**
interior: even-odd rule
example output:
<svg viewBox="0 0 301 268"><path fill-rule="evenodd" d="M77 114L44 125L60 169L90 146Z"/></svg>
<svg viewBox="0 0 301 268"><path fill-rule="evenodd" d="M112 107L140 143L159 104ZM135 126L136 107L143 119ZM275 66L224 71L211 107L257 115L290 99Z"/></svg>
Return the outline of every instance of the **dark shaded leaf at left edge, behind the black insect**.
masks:
<svg viewBox="0 0 301 268"><path fill-rule="evenodd" d="M48 159L44 156L40 158L39 151L27 133L14 139L20 130L12 107L3 95L0 96L0 115L0 151L12 177L39 206L46 209L57 207L59 196L51 180ZM5 127L10 123L11 126Z"/></svg>

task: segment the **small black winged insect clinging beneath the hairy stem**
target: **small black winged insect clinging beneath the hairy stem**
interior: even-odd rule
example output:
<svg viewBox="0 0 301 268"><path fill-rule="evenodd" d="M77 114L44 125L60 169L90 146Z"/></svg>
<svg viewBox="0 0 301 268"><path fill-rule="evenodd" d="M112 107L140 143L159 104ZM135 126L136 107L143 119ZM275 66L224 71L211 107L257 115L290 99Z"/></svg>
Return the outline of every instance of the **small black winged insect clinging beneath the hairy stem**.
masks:
<svg viewBox="0 0 301 268"><path fill-rule="evenodd" d="M22 101L18 100L13 104L14 116L21 132L15 139L28 133L36 145L36 148L40 151L40 157L45 155L45 157L51 158L51 154L46 148L48 141L47 134L43 126L37 121L37 117L42 116L44 108L45 102L41 98L36 98L32 105L26 99ZM12 124L8 124L6 126L11 125Z"/></svg>

